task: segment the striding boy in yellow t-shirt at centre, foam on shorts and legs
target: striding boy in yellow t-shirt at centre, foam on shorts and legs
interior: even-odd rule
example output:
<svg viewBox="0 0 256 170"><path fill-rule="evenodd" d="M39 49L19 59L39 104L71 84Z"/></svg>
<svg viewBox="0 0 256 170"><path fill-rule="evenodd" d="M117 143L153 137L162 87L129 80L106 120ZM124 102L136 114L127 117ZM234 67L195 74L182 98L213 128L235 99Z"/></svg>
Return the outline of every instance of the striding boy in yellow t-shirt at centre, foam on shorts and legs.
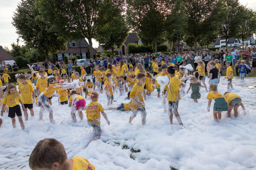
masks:
<svg viewBox="0 0 256 170"><path fill-rule="evenodd" d="M137 112L140 111L141 118L142 118L141 119L142 125L145 125L147 113L145 111L145 103L144 103L143 97L145 99L146 77L145 77L145 74L138 73L137 78L138 78L138 82L133 86L130 93L130 98L131 98L130 109L133 113L130 116L129 123L131 123L131 121L137 116Z"/></svg>

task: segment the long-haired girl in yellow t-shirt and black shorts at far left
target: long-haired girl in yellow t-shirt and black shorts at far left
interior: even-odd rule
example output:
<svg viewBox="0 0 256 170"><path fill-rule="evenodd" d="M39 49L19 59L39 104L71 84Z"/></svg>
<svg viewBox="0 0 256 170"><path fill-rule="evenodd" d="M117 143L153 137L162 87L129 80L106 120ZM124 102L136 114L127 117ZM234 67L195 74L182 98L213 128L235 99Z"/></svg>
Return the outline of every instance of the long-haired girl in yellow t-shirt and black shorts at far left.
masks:
<svg viewBox="0 0 256 170"><path fill-rule="evenodd" d="M3 116L3 110L7 105L9 107L8 117L12 118L12 127L13 128L16 127L16 121L15 121L15 113L16 113L20 122L21 129L25 129L19 104L21 104L23 111L25 110L25 108L20 99L20 94L18 93L15 84L11 83L10 85L7 86L6 93L4 94L2 99L2 104L3 105L1 109L1 116Z"/></svg>

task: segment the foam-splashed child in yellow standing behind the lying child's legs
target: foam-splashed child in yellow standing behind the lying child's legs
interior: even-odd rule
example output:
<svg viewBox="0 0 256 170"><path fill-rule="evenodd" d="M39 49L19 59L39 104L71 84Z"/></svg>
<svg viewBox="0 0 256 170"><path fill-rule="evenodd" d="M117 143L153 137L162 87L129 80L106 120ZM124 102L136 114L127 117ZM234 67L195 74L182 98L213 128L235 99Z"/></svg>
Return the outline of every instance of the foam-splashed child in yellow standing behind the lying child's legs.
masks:
<svg viewBox="0 0 256 170"><path fill-rule="evenodd" d="M107 80L105 81L104 85L103 85L103 89L105 91L105 94L107 96L107 100L108 100L108 105L112 105L113 104L113 100L114 100L114 96L113 96L113 89L116 91L117 90L113 84L112 78L111 78L111 74L108 73L106 75Z"/></svg>

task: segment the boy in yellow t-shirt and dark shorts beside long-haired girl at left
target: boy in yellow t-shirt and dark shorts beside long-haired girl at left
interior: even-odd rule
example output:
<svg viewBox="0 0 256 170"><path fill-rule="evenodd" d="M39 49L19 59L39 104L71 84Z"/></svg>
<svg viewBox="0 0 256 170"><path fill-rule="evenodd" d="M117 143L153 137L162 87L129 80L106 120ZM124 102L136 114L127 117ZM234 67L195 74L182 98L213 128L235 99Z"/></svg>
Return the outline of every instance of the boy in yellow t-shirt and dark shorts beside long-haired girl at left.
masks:
<svg viewBox="0 0 256 170"><path fill-rule="evenodd" d="M24 74L18 75L18 79L20 81L18 90L19 90L21 101L23 102L23 105L25 108L24 116L25 116L25 120L28 120L29 115L28 115L27 108L29 108L31 116L34 116L33 101L35 100L35 91L34 91L33 85L26 81L26 76Z"/></svg>

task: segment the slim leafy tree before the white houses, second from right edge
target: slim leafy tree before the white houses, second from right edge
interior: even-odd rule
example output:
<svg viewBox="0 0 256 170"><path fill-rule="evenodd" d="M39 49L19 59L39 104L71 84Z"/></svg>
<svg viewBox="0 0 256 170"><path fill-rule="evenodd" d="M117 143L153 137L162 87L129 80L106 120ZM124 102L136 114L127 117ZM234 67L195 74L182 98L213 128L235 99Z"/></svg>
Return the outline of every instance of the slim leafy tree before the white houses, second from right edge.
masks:
<svg viewBox="0 0 256 170"><path fill-rule="evenodd" d="M219 33L222 38L225 38L227 48L227 40L236 37L239 32L238 28L241 24L242 6L239 0L223 0L223 3L224 7L220 11L221 22Z"/></svg>

